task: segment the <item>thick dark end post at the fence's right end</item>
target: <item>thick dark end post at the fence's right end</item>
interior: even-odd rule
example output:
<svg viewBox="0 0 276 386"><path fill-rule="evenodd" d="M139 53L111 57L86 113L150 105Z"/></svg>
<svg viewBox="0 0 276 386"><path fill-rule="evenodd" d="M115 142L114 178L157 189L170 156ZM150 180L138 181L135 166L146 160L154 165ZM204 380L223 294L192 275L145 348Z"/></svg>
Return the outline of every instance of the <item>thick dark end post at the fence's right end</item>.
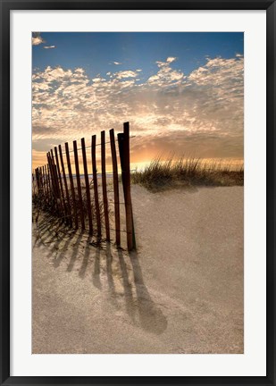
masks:
<svg viewBox="0 0 276 386"><path fill-rule="evenodd" d="M121 159L121 180L126 210L127 242L129 251L136 248L135 231L130 193L130 122L123 124L123 133L118 134Z"/></svg>

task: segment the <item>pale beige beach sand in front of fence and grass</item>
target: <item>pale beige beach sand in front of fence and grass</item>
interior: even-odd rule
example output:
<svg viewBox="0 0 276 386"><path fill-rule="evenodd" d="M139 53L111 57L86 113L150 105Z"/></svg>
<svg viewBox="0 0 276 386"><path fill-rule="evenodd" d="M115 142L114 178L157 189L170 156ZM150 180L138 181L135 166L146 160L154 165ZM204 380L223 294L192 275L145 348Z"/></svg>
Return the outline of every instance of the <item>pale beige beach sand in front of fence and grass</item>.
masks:
<svg viewBox="0 0 276 386"><path fill-rule="evenodd" d="M243 188L132 187L138 252L33 230L33 353L243 353Z"/></svg>

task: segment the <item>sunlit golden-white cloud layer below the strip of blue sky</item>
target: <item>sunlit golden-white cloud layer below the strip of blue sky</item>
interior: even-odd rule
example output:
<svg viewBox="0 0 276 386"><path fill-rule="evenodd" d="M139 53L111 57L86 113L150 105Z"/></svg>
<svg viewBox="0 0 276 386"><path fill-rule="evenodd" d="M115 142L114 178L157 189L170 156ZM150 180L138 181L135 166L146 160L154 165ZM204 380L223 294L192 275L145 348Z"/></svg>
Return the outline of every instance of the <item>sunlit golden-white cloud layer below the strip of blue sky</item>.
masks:
<svg viewBox="0 0 276 386"><path fill-rule="evenodd" d="M207 58L189 74L171 68L176 58L140 71L108 72L90 79L82 68L48 66L33 74L33 140L38 149L120 129L130 121L131 159L161 151L200 157L243 156L244 59ZM38 142L39 141L39 142ZM55 142L54 142L55 141Z"/></svg>

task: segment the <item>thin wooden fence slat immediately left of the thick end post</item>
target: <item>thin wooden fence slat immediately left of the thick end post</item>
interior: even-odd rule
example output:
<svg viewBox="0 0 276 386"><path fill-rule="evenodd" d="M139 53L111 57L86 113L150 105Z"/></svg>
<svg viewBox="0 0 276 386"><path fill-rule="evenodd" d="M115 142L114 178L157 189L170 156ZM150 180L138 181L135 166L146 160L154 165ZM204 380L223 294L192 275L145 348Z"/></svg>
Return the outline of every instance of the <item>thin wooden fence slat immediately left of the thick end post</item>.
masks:
<svg viewBox="0 0 276 386"><path fill-rule="evenodd" d="M113 159L113 190L114 190L114 212L115 212L115 230L116 230L116 244L121 245L121 234L120 234L120 199L119 199L119 182L118 182L118 165L116 157L116 147L114 130L109 130L110 135L110 147Z"/></svg>

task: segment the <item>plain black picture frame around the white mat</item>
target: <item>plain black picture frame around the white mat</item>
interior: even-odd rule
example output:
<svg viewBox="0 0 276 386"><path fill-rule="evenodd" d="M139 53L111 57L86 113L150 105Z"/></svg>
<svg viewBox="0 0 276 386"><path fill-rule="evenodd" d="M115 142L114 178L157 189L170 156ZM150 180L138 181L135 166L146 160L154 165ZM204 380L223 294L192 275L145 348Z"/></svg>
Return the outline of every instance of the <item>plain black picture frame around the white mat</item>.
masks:
<svg viewBox="0 0 276 386"><path fill-rule="evenodd" d="M0 0L1 12L1 162L0 162L0 271L1 271L1 385L60 384L209 384L276 385L275 381L275 0ZM67 377L10 376L10 12L12 10L265 10L266 11L266 376L225 377ZM13 96L11 96L13 97ZM257 285L257 283L256 283Z"/></svg>

